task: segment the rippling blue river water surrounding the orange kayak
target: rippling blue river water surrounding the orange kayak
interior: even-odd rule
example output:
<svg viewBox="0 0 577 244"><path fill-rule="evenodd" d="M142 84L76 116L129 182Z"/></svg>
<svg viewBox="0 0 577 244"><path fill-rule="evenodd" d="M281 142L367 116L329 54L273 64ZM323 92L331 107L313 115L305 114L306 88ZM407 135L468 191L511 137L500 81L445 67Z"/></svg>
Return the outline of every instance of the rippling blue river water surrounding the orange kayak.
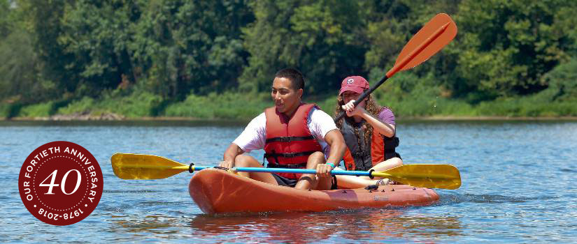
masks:
<svg viewBox="0 0 577 244"><path fill-rule="evenodd" d="M242 130L213 122L0 122L0 242L577 241L577 123L571 121L400 121L405 163L452 164L461 172L462 187L438 190L441 201L427 207L209 216L190 199L187 172L125 181L111 169L117 152L215 165ZM87 148L104 174L99 206L65 227L36 220L17 187L27 155L57 140Z"/></svg>

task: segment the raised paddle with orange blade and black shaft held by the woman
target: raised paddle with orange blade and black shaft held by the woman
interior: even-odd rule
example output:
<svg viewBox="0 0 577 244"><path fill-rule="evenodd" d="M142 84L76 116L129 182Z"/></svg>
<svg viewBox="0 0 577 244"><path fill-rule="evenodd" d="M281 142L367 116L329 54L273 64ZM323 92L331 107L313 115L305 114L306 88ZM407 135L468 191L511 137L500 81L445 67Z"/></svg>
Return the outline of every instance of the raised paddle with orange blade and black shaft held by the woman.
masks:
<svg viewBox="0 0 577 244"><path fill-rule="evenodd" d="M429 20L425 26L422 26L415 36L403 47L401 54L397 57L397 61L395 61L394 66L387 72L385 77L380 79L371 89L364 91L359 98L355 100L355 107L395 73L408 70L427 61L427 59L450 43L456 35L457 25L451 20L449 15L445 13L435 15L435 17ZM341 114L334 118L334 121L339 121L344 115L345 112L341 112Z"/></svg>

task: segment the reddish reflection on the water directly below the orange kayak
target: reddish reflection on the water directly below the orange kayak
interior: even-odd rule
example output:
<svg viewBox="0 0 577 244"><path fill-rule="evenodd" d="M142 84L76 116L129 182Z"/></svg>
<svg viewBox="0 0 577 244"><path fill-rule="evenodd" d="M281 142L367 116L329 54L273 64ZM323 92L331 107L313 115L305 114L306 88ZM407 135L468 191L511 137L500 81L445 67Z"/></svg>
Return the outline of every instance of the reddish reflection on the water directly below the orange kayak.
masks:
<svg viewBox="0 0 577 244"><path fill-rule="evenodd" d="M197 215L192 235L235 234L238 241L299 242L328 240L390 240L457 236L457 218L404 216L404 209L270 213L261 215ZM424 236L423 236L424 235Z"/></svg>

